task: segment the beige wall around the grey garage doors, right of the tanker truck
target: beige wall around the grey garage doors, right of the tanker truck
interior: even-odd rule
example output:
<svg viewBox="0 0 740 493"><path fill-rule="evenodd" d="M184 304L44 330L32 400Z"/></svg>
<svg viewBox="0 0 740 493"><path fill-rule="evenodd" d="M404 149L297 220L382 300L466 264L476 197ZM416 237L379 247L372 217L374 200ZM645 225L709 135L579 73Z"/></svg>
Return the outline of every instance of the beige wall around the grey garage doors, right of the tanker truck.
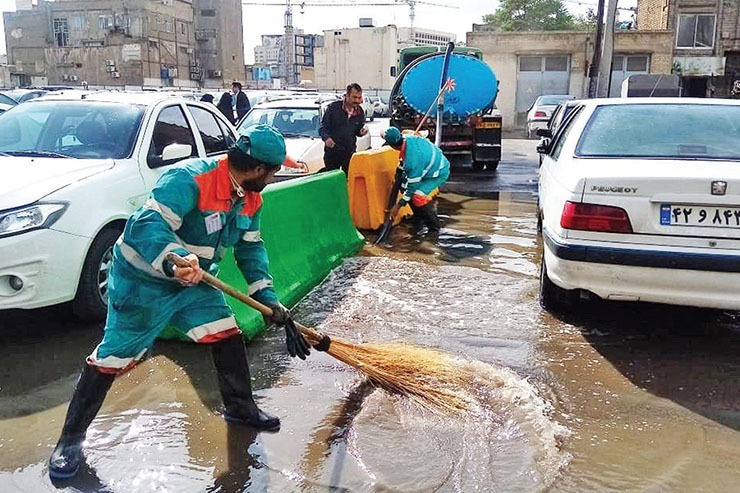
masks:
<svg viewBox="0 0 740 493"><path fill-rule="evenodd" d="M570 57L569 94L588 93L588 67L593 53L594 34L579 31L467 33L467 45L483 50L483 60L499 80L496 106L506 129L516 126L516 90L519 56L568 55ZM650 73L670 73L673 33L670 31L623 31L614 38L615 54L650 55Z"/></svg>

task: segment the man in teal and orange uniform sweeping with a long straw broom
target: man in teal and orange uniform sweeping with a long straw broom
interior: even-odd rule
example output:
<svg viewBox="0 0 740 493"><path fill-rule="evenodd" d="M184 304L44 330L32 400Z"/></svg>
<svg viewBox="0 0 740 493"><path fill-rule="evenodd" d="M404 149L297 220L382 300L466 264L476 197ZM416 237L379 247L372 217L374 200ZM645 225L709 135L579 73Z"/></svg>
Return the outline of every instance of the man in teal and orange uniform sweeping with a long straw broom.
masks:
<svg viewBox="0 0 740 493"><path fill-rule="evenodd" d="M211 347L227 421L263 430L280 427L277 417L254 402L244 340L224 295L200 281L233 247L249 294L270 306L271 322L285 328L290 355L309 354L275 294L260 238L260 192L284 160L279 132L249 127L227 156L188 159L167 170L129 218L113 249L105 334L77 382L49 462L52 478L77 473L85 432L113 379L136 365L167 326ZM171 265L165 259L169 252L191 267Z"/></svg>

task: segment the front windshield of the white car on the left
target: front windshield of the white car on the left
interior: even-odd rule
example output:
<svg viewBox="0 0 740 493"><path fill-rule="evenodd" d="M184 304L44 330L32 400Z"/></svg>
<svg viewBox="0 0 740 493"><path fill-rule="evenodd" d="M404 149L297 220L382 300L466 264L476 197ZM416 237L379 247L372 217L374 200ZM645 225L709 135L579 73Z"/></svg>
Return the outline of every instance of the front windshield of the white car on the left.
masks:
<svg viewBox="0 0 740 493"><path fill-rule="evenodd" d="M33 101L0 115L0 152L16 156L121 159L131 155L144 107Z"/></svg>

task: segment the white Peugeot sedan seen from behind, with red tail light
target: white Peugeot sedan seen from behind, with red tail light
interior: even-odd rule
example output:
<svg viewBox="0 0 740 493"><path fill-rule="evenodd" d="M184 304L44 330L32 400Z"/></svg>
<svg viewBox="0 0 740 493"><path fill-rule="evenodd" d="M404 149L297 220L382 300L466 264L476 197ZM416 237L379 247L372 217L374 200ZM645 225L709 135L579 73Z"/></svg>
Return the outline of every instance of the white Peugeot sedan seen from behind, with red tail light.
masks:
<svg viewBox="0 0 740 493"><path fill-rule="evenodd" d="M545 307L740 309L740 101L584 101L538 150Z"/></svg>

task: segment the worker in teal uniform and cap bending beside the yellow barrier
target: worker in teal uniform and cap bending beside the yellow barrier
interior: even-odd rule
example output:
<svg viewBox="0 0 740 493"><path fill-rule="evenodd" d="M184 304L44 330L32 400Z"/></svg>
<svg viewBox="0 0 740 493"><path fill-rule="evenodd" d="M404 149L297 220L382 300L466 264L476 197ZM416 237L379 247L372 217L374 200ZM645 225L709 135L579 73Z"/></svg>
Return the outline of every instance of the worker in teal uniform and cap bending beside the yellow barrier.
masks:
<svg viewBox="0 0 740 493"><path fill-rule="evenodd" d="M426 225L428 234L439 233L439 217L431 193L442 186L450 176L450 162L442 150L424 137L402 135L396 127L389 127L383 134L386 144L400 154L405 179L401 185L403 196L391 209L391 217L410 204L414 217Z"/></svg>

